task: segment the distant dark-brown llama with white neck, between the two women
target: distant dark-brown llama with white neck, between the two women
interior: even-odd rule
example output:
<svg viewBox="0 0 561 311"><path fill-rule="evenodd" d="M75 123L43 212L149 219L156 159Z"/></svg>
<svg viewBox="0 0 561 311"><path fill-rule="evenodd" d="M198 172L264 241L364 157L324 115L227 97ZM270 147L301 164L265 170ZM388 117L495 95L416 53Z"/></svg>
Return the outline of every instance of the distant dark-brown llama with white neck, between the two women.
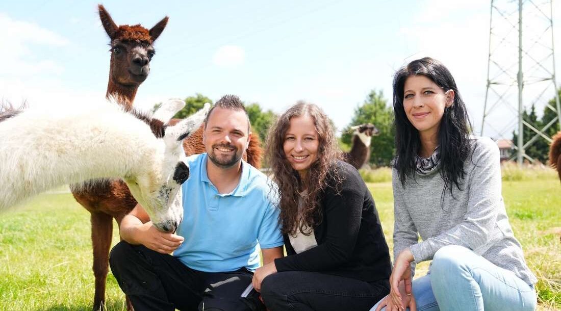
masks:
<svg viewBox="0 0 561 311"><path fill-rule="evenodd" d="M370 160L370 141L380 131L372 123L351 127L353 131L351 151L344 153L345 162L360 169Z"/></svg>

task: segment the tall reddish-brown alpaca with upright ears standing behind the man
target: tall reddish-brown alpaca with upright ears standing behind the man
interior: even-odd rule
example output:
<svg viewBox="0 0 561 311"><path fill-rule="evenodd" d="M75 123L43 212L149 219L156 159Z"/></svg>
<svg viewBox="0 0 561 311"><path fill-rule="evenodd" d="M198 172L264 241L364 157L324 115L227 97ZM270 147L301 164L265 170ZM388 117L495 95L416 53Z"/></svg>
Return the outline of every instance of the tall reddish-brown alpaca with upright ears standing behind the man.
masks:
<svg viewBox="0 0 561 311"><path fill-rule="evenodd" d="M127 109L132 108L136 91L150 71L150 60L154 56L153 43L167 25L168 17L164 17L150 30L140 25L117 26L109 13L100 4L99 18L111 39L111 65L107 96L117 95L120 104ZM178 120L174 120L175 124ZM170 122L172 123L172 122ZM202 128L197 129L183 141L187 155L204 152ZM259 168L261 154L259 137L252 136L247 151L247 160ZM93 245L93 271L95 277L94 310L105 306L105 281L109 272L109 248L111 247L113 220L121 224L123 217L136 206L136 200L123 180L107 180L105 182L87 183L84 187L71 187L72 194L91 214L91 240ZM78 191L77 189L80 189ZM127 309L132 310L127 299Z"/></svg>

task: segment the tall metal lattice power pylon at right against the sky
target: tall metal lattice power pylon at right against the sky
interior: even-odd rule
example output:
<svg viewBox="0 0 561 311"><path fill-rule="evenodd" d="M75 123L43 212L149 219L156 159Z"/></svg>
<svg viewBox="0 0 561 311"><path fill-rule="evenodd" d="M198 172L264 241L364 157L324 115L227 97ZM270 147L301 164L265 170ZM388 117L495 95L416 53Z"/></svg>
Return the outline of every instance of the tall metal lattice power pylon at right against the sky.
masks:
<svg viewBox="0 0 561 311"><path fill-rule="evenodd" d="M526 155L526 148L537 140L551 143L545 131L561 124L561 106L555 81L553 47L553 0L491 0L489 30L489 59L487 90L481 124L494 133L488 136L510 139L518 132L518 164ZM555 98L553 105L548 100ZM551 122L535 128L523 113L532 104L536 109L551 109L556 113ZM539 110L540 111L540 110ZM531 138L523 143L524 128L531 129Z"/></svg>

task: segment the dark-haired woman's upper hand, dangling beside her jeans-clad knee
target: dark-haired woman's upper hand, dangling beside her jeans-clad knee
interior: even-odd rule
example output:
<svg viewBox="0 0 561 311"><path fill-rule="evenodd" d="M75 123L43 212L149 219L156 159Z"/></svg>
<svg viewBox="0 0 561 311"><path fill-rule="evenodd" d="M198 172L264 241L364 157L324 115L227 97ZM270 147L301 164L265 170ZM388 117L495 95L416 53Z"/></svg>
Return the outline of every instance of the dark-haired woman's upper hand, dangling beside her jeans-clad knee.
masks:
<svg viewBox="0 0 561 311"><path fill-rule="evenodd" d="M405 296L412 296L411 293L411 262L414 260L413 254L409 248L402 250L394 262L392 275L389 277L390 291L389 297L392 304L397 306L399 310L404 310L406 305L402 303ZM403 293L400 293L399 287L403 282ZM404 295L403 295L404 294ZM413 304L415 299L413 300Z"/></svg>

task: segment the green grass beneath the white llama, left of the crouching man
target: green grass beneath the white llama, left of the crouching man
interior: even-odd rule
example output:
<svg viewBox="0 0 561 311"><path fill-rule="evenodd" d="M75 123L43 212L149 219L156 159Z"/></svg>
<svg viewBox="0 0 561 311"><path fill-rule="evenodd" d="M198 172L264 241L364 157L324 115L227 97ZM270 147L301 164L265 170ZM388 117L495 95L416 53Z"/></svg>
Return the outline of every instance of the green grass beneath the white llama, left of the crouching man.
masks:
<svg viewBox="0 0 561 311"><path fill-rule="evenodd" d="M71 194L42 194L0 213L0 310L91 310L89 215ZM111 273L107 285L109 309L123 310Z"/></svg>

